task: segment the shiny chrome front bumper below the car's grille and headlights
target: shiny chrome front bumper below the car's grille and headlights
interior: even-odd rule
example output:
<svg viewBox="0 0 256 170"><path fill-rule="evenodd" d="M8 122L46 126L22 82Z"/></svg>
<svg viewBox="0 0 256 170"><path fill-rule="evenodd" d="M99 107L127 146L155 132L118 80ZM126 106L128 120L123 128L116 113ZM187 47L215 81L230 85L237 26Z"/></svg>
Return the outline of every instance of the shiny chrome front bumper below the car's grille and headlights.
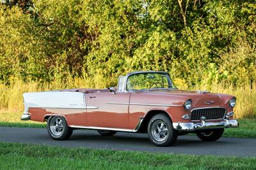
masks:
<svg viewBox="0 0 256 170"><path fill-rule="evenodd" d="M173 128L177 131L196 131L201 129L219 129L225 127L239 127L237 120L224 120L221 122L205 122L200 123L173 123Z"/></svg>

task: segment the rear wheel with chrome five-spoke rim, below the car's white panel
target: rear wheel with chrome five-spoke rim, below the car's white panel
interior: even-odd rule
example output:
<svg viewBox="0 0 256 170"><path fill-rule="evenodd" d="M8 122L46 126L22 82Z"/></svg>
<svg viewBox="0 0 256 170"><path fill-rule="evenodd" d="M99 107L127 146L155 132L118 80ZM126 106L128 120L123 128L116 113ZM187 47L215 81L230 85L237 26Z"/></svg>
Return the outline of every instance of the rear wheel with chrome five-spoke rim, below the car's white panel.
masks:
<svg viewBox="0 0 256 170"><path fill-rule="evenodd" d="M47 121L47 131L54 140L65 140L70 138L73 129L63 117L50 117Z"/></svg>

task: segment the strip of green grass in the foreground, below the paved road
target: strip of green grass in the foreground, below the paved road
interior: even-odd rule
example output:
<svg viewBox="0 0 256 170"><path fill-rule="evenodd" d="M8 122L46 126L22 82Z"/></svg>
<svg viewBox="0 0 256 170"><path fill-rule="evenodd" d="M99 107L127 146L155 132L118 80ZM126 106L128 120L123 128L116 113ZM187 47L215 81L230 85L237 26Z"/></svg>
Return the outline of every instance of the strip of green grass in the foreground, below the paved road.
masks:
<svg viewBox="0 0 256 170"><path fill-rule="evenodd" d="M256 169L256 158L0 143L0 169Z"/></svg>

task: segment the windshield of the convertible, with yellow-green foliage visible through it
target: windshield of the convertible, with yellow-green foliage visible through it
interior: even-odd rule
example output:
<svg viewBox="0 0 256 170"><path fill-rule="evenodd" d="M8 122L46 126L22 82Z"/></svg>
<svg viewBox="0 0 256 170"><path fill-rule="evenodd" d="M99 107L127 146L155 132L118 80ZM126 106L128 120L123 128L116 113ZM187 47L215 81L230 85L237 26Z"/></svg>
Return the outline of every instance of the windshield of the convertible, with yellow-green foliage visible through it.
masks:
<svg viewBox="0 0 256 170"><path fill-rule="evenodd" d="M127 91L149 89L174 89L170 76L167 73L138 73L127 79Z"/></svg>

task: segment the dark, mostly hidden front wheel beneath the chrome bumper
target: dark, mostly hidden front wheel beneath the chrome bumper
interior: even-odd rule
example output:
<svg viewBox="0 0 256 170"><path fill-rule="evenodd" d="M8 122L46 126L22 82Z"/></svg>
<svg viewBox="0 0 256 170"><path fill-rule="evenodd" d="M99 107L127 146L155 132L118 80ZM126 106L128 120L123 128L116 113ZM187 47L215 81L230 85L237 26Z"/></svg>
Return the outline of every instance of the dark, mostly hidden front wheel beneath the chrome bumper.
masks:
<svg viewBox="0 0 256 170"><path fill-rule="evenodd" d="M196 132L196 135L202 141L217 141L221 138L224 129L209 129Z"/></svg>

